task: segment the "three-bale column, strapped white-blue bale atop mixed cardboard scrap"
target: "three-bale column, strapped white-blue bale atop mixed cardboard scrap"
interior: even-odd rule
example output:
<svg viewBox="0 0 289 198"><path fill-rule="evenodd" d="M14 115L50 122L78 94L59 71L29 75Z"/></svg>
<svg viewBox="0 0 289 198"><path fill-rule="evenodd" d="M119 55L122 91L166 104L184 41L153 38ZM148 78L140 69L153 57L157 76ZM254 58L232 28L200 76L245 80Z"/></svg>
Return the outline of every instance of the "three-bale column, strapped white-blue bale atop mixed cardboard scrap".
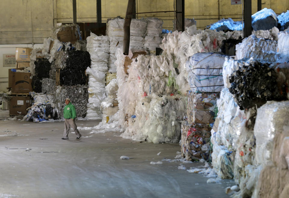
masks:
<svg viewBox="0 0 289 198"><path fill-rule="evenodd" d="M224 61L222 54L197 53L186 63L191 88L187 91L187 120L182 122L181 153L186 160L210 160L211 129L223 87Z"/></svg>

